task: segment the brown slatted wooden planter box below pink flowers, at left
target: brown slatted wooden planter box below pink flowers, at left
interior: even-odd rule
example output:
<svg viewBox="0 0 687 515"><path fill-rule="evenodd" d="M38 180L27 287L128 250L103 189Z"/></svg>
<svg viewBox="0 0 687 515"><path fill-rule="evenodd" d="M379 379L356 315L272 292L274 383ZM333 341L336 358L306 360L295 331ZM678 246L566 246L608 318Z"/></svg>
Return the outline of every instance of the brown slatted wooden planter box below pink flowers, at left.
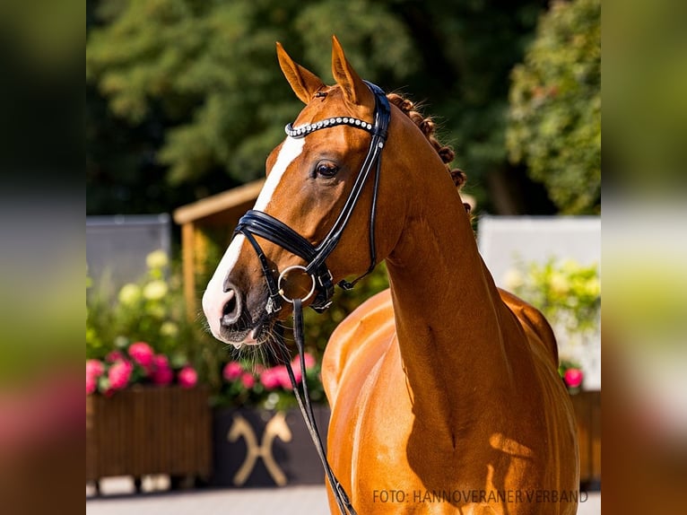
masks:
<svg viewBox="0 0 687 515"><path fill-rule="evenodd" d="M211 410L205 388L137 387L86 397L86 481L167 474L208 478Z"/></svg>

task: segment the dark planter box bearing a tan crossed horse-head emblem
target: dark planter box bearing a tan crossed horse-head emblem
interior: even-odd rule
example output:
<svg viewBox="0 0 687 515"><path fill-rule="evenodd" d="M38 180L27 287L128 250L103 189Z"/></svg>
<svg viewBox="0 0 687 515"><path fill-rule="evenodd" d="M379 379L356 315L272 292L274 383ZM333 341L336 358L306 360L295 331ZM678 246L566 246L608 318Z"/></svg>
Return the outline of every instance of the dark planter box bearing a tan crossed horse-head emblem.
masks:
<svg viewBox="0 0 687 515"><path fill-rule="evenodd" d="M326 444L328 406L314 406ZM298 408L222 408L213 413L214 486L324 484L325 473Z"/></svg>

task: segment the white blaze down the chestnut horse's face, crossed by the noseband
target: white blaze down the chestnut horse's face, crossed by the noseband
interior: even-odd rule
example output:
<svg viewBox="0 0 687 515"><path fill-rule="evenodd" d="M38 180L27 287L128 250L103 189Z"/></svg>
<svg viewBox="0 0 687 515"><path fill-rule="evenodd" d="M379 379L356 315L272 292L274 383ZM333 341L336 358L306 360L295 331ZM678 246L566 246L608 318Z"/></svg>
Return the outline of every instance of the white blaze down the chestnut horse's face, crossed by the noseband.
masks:
<svg viewBox="0 0 687 515"><path fill-rule="evenodd" d="M305 144L305 141L302 138L294 139L292 137L287 137L286 140L284 140L277 160L274 162L274 167L267 176L265 186L260 191L260 195L257 196L256 205L253 209L265 211L274 195L274 191L282 181L284 171L286 171L291 162L303 151L303 144ZM213 332L213 336L220 340L222 340L222 336L220 336L220 319L222 319L222 311L224 310L224 305L227 301L230 301L233 296L233 292L224 292L224 280L239 261L239 255L245 240L246 237L239 234L231 241L229 248L224 253L220 264L214 271L213 278L210 279L203 294L205 318L210 324L210 330Z"/></svg>

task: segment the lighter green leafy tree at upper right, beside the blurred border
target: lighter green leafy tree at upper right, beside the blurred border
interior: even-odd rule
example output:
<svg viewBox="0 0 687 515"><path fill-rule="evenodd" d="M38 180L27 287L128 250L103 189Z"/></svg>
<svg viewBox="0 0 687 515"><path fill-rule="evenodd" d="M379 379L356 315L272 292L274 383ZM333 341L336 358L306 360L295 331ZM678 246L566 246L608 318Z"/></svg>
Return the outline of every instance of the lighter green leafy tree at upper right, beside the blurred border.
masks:
<svg viewBox="0 0 687 515"><path fill-rule="evenodd" d="M512 74L507 144L564 214L601 208L601 1L556 1Z"/></svg>

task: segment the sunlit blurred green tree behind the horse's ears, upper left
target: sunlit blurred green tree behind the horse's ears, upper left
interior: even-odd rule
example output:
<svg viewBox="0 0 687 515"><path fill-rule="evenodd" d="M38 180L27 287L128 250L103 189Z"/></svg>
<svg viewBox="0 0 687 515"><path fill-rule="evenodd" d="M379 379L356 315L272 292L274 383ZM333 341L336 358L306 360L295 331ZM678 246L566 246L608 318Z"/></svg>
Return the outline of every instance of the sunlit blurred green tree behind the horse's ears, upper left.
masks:
<svg viewBox="0 0 687 515"><path fill-rule="evenodd" d="M342 39L361 53L369 51L369 69L363 71L370 74L376 63L385 62L398 76L408 69L412 49L403 27L383 7L373 9L375 23L363 24L364 4L355 0L343 8L333 2L299 10L300 3L293 1L148 0L122 4L109 14L101 9L110 22L91 31L87 79L98 83L110 109L131 124L161 109L169 127L157 158L169 167L171 185L204 179L218 167L246 182L264 173L266 154L300 109L284 87L275 41L302 55L301 39L291 34L302 31L307 40L309 28L322 30L317 20L327 10L341 8L339 22L358 26ZM398 51L391 61L385 60L385 32L377 31L377 24L395 33ZM369 40L367 48L355 44L361 39ZM312 57L317 72L328 70L319 54Z"/></svg>

